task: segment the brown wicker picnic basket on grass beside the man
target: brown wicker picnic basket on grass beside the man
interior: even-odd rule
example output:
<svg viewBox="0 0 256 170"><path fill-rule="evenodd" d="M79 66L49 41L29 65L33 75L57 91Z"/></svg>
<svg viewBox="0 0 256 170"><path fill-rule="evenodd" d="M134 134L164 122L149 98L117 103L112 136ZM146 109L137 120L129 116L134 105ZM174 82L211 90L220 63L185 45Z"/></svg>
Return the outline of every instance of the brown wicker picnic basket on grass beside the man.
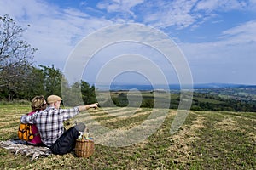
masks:
<svg viewBox="0 0 256 170"><path fill-rule="evenodd" d="M94 152L94 141L87 139L77 139L75 145L75 155L78 157L90 157Z"/></svg>

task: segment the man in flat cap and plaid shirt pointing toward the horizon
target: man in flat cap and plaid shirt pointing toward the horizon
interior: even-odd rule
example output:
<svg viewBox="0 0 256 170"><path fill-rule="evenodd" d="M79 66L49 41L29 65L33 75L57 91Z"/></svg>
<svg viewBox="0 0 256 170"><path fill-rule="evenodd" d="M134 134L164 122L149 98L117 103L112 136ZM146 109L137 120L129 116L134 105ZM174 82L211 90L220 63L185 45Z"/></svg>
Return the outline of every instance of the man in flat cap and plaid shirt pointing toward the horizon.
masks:
<svg viewBox="0 0 256 170"><path fill-rule="evenodd" d="M97 108L97 103L79 105L71 109L60 109L61 97L50 95L47 98L49 107L44 111L37 111L33 115L21 116L20 122L36 124L43 144L50 148L53 154L67 154L71 152L79 137L79 132L84 132L84 123L64 130L63 122L90 108Z"/></svg>

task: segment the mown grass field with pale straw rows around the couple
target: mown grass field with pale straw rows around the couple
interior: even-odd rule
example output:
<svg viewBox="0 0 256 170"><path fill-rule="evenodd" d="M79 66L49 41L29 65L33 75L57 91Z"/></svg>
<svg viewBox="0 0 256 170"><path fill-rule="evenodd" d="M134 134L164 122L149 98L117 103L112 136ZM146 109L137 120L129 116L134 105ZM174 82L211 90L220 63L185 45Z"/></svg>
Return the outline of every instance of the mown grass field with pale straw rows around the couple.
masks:
<svg viewBox="0 0 256 170"><path fill-rule="evenodd" d="M0 140L16 138L20 116L28 111L29 105L0 105ZM129 111L129 108L103 108L89 112L96 122L113 129L135 127L147 119L151 110L140 108L133 114ZM0 148L0 168L256 169L256 113L190 111L174 135L169 131L177 111L168 110L168 113L160 128L138 144L126 147L96 144L90 158L70 153L36 161ZM84 115L81 112L75 119L83 121Z"/></svg>

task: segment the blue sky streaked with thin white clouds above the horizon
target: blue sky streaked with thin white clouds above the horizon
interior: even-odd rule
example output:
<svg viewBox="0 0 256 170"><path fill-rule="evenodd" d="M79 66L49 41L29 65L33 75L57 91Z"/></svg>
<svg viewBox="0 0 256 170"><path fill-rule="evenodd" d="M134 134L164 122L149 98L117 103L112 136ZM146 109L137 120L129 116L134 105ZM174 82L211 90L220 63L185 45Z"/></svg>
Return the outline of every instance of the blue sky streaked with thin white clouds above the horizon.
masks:
<svg viewBox="0 0 256 170"><path fill-rule="evenodd" d="M177 44L193 82L256 84L256 0L1 0L0 14L9 14L21 26L31 25L24 37L38 48L37 65L63 70L84 37L106 26L138 23L162 31ZM101 67L102 60L98 56L92 63ZM158 62L166 67L164 60ZM93 72L93 64L87 72ZM168 81L176 83L178 78L170 75ZM88 82L93 77L84 73ZM140 78L144 80L132 72L116 80Z"/></svg>

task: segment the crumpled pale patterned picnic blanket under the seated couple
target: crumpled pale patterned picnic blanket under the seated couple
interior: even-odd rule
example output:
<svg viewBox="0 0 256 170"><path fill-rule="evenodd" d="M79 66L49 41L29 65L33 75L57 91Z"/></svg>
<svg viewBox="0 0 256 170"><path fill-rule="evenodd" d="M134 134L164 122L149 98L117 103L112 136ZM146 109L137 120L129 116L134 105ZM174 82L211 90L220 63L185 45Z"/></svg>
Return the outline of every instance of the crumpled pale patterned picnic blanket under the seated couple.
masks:
<svg viewBox="0 0 256 170"><path fill-rule="evenodd" d="M51 154L49 148L44 146L34 146L27 144L26 141L20 139L9 139L0 141L1 148L7 149L15 154L32 156L31 161L38 159L41 156L49 156Z"/></svg>

